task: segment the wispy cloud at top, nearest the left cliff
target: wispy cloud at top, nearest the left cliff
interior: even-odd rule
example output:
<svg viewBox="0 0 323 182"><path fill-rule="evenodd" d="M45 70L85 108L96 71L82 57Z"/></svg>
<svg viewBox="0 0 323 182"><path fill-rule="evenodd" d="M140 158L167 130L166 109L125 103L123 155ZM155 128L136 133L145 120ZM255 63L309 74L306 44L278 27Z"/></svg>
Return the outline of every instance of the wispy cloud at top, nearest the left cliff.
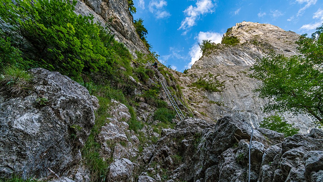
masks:
<svg viewBox="0 0 323 182"><path fill-rule="evenodd" d="M171 14L165 10L167 1L152 0L149 2L149 11L155 15L157 19L170 17Z"/></svg>

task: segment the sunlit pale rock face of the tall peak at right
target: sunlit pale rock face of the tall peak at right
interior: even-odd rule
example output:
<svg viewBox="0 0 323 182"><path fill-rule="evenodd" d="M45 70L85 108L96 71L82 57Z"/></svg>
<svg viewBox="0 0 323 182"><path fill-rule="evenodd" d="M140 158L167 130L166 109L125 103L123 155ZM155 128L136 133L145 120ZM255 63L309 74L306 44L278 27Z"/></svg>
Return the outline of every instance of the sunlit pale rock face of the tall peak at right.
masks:
<svg viewBox="0 0 323 182"><path fill-rule="evenodd" d="M197 114L198 117L218 120L226 115L235 115L237 119L245 119L258 127L264 117L274 113L267 114L261 110L268 101L252 92L260 82L248 77L248 69L269 50L287 56L295 55L295 41L299 35L269 24L242 22L232 27L225 36L235 36L240 43L236 46L220 45L195 62L187 74L173 75L179 75L177 78L181 80L182 92L188 104L204 115ZM219 87L219 92L191 86L199 78L207 82L218 80L224 86ZM290 123L295 123L302 133L308 133L313 127L313 119L309 116L298 115L294 118L288 113L281 115Z"/></svg>

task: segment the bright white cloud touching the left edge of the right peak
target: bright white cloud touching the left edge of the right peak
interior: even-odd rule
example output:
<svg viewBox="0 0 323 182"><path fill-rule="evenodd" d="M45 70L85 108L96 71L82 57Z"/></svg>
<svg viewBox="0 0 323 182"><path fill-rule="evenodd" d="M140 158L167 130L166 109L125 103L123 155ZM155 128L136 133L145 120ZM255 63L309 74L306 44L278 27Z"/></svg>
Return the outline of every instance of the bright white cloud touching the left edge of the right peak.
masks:
<svg viewBox="0 0 323 182"><path fill-rule="evenodd" d="M195 37L195 40L198 42L202 42L203 40L211 40L211 42L214 43L221 43L222 40L222 34L217 32L200 32L197 37ZM202 52L201 48L198 44L194 44L189 52L191 56L191 62L185 66L185 69L190 69L192 65L201 58Z"/></svg>

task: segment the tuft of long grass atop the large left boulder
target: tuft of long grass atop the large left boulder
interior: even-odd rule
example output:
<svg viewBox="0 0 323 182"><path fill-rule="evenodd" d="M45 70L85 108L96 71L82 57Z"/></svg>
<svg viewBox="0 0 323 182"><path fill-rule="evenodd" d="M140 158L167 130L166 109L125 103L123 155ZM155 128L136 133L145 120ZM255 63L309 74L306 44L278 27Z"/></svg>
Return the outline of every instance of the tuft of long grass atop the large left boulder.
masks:
<svg viewBox="0 0 323 182"><path fill-rule="evenodd" d="M26 71L15 66L7 66L0 75L0 90L12 95L24 94L30 89L31 78L32 76Z"/></svg>

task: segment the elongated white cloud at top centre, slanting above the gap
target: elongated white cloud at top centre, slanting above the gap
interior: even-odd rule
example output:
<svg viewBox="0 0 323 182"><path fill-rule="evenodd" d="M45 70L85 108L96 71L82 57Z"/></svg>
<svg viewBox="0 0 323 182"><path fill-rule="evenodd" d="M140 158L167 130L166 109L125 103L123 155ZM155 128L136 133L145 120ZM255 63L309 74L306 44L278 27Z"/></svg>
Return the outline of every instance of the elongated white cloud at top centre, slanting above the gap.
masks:
<svg viewBox="0 0 323 182"><path fill-rule="evenodd" d="M195 21L200 18L200 15L213 13L215 3L213 3L212 0L198 0L195 5L196 6L194 7L192 5L188 6L184 10L186 17L178 29L187 29L193 27L196 24Z"/></svg>

